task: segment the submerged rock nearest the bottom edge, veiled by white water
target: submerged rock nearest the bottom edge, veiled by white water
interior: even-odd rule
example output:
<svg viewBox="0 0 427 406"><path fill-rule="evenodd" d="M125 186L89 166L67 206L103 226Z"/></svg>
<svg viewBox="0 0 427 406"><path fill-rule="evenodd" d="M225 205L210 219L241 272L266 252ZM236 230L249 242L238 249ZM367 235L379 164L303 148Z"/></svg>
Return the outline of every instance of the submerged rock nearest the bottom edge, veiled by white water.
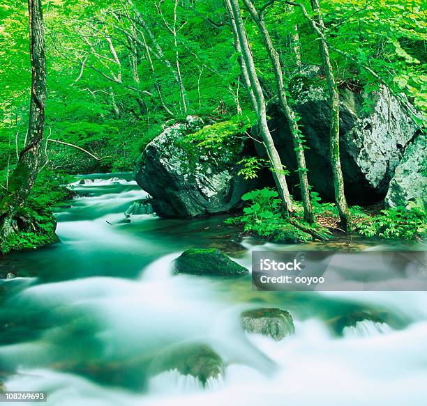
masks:
<svg viewBox="0 0 427 406"><path fill-rule="evenodd" d="M175 345L158 354L151 366L150 375L158 375L168 370L178 370L182 375L192 375L203 385L209 378L224 375L223 360L209 345L192 343Z"/></svg>

